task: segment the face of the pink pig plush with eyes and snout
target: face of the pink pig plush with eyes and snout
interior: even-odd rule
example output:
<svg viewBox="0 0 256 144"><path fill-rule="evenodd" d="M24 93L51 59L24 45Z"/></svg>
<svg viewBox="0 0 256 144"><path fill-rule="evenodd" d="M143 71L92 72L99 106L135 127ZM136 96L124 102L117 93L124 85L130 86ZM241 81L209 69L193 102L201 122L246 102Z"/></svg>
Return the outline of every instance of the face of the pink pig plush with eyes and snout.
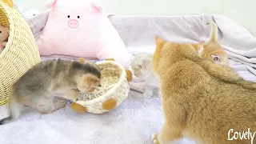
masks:
<svg viewBox="0 0 256 144"><path fill-rule="evenodd" d="M98 22L98 17L102 14L102 7L94 2L69 0L53 1L49 19L56 25L70 28L70 30L84 27L86 23ZM61 23L59 23L61 22Z"/></svg>

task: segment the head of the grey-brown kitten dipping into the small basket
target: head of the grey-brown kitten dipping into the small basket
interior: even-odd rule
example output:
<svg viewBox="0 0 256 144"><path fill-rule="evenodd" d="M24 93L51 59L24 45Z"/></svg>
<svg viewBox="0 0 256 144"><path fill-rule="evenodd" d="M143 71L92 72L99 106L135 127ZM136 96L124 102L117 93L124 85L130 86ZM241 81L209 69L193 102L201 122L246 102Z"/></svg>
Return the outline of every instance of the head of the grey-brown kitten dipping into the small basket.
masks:
<svg viewBox="0 0 256 144"><path fill-rule="evenodd" d="M101 86L101 72L94 62L74 62L73 70L78 83L78 90L82 93L94 91L98 86Z"/></svg>

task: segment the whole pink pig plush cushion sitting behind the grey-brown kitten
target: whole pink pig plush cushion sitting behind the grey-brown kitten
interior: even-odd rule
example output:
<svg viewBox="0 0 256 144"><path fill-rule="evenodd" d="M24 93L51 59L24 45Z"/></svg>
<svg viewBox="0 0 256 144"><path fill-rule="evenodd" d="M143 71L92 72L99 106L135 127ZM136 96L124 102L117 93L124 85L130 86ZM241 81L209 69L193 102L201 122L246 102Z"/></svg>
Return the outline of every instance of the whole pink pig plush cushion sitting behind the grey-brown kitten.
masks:
<svg viewBox="0 0 256 144"><path fill-rule="evenodd" d="M41 55L114 58L128 68L128 53L118 31L97 1L50 0L46 26L37 40Z"/></svg>

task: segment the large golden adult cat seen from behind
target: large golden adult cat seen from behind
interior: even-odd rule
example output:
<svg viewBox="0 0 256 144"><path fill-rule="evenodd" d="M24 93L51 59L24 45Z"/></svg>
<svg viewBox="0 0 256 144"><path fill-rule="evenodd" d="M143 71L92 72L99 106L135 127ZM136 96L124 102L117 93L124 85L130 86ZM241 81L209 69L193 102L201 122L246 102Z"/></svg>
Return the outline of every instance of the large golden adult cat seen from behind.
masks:
<svg viewBox="0 0 256 144"><path fill-rule="evenodd" d="M154 143L182 137L207 144L250 143L256 136L256 83L198 57L191 44L159 37L156 44L151 64L160 79L165 122L153 134ZM247 134L240 140L236 132Z"/></svg>

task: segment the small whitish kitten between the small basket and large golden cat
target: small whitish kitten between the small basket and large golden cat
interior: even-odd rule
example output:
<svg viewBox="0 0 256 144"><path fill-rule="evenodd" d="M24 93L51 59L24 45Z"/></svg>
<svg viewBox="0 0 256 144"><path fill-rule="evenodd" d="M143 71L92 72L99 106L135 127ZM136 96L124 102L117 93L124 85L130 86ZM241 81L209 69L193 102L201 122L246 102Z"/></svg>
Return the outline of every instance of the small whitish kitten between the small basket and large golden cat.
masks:
<svg viewBox="0 0 256 144"><path fill-rule="evenodd" d="M134 54L134 60L131 62L131 69L134 70L134 75L142 78L146 82L145 98L152 98L154 87L159 87L158 79L154 77L150 69L152 54Z"/></svg>

